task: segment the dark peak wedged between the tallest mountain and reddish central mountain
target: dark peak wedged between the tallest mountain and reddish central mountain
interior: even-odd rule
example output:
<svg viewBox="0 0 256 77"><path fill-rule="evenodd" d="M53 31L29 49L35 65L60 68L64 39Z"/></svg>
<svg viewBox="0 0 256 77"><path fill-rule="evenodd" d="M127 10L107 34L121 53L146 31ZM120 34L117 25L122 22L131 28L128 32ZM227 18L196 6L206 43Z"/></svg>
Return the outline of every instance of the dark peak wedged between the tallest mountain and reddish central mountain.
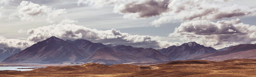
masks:
<svg viewBox="0 0 256 77"><path fill-rule="evenodd" d="M66 40L66 42L75 45L76 47L82 49L89 55L93 54L99 48L108 47L102 43L93 43L91 41L84 40L84 39L77 39L75 41Z"/></svg>

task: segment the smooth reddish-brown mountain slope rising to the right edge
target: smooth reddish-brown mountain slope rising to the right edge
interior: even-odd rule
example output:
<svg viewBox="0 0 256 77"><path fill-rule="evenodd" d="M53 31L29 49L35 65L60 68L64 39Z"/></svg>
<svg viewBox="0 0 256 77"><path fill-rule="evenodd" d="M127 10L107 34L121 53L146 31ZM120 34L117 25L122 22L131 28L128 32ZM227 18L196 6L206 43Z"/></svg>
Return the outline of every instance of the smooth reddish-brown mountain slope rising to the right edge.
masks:
<svg viewBox="0 0 256 77"><path fill-rule="evenodd" d="M193 57L187 60L209 60L209 61L223 61L227 59L256 59L256 45L254 44L240 44L225 51L214 52L202 56Z"/></svg>

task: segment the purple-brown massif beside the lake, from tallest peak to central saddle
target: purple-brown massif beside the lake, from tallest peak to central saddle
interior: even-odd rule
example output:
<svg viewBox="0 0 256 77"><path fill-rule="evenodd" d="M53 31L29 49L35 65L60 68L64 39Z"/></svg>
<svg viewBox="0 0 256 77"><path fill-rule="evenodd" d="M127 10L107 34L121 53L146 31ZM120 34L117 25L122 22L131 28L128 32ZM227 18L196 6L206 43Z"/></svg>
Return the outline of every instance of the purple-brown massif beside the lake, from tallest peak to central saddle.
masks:
<svg viewBox="0 0 256 77"><path fill-rule="evenodd" d="M113 46L113 45L111 45ZM121 51L118 45L109 47L102 43L93 43L84 39L62 40L52 36L28 47L19 53L7 57L5 63L101 63L122 64L130 62L169 61L153 48L127 47ZM129 49L131 48L131 49ZM116 49L116 50L115 50ZM129 52L126 52L129 51ZM135 52L138 52L136 54Z"/></svg>

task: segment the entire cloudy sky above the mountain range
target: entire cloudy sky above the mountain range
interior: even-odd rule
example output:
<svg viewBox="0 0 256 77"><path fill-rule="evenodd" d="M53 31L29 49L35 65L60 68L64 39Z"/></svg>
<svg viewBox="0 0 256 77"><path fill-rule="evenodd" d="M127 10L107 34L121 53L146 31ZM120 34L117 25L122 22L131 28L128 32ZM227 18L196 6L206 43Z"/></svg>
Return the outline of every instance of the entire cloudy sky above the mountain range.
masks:
<svg viewBox="0 0 256 77"><path fill-rule="evenodd" d="M0 47L51 36L166 48L256 43L255 0L1 0Z"/></svg>

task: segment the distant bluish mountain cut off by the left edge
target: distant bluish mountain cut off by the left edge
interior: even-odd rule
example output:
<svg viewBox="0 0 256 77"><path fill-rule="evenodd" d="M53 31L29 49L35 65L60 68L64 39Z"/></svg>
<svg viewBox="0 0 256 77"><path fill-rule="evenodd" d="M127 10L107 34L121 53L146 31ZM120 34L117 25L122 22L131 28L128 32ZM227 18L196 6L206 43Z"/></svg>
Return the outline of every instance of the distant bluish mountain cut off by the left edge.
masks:
<svg viewBox="0 0 256 77"><path fill-rule="evenodd" d="M21 50L18 48L0 47L0 61L3 61L9 56L17 54Z"/></svg>

